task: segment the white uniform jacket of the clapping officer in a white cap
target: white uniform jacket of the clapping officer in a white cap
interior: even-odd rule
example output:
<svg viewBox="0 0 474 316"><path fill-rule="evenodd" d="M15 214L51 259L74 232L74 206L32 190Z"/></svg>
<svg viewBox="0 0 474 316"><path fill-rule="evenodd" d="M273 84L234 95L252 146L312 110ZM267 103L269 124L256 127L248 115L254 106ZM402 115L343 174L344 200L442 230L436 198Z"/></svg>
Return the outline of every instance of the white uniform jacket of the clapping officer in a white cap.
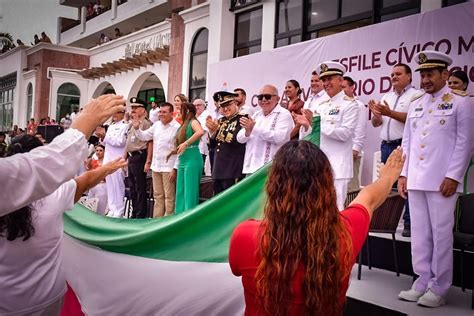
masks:
<svg viewBox="0 0 474 316"><path fill-rule="evenodd" d="M339 92L320 105L321 150L326 154L334 179L352 178L352 137L359 108L353 98Z"/></svg>

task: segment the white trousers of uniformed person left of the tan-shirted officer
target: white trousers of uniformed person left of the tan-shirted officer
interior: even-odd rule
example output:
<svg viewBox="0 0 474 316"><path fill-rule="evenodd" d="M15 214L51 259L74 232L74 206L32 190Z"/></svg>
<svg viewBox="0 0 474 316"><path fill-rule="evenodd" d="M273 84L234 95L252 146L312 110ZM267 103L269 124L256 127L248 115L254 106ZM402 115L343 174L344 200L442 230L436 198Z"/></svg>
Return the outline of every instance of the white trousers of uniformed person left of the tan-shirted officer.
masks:
<svg viewBox="0 0 474 316"><path fill-rule="evenodd" d="M105 178L107 185L107 206L109 209L109 216L123 217L125 210L125 203L123 198L125 196L125 182L123 170L119 169Z"/></svg>

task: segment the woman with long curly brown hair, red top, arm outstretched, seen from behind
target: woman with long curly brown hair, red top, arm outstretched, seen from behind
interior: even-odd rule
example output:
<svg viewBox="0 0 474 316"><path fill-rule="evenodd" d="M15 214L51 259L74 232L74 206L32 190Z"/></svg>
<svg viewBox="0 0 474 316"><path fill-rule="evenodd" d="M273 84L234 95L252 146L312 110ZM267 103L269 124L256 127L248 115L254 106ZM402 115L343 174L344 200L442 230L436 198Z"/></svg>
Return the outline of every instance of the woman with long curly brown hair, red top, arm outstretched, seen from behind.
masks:
<svg viewBox="0 0 474 316"><path fill-rule="evenodd" d="M229 264L242 276L245 314L341 315L370 217L402 166L397 149L380 179L339 212L324 153L307 141L283 145L266 183L264 219L241 223L230 242Z"/></svg>

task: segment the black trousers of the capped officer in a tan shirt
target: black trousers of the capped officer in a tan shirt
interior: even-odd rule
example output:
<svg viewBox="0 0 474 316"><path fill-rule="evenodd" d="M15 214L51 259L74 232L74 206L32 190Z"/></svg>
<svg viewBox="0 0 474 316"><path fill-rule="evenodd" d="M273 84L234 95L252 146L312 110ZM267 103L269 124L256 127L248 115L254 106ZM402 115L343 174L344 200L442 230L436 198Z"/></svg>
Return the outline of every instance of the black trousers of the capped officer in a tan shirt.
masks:
<svg viewBox="0 0 474 316"><path fill-rule="evenodd" d="M143 171L146 163L146 151L128 157L128 184L132 200L132 218L148 216L146 173Z"/></svg>

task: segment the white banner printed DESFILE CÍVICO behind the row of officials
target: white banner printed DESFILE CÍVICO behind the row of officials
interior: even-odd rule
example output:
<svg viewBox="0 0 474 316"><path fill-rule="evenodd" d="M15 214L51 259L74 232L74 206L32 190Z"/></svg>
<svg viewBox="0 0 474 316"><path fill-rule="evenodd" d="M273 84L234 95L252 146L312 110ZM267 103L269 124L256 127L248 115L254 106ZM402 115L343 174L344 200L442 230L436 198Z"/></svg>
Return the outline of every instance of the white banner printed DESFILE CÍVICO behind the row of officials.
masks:
<svg viewBox="0 0 474 316"><path fill-rule="evenodd" d="M257 105L256 95L264 84L283 89L289 79L296 79L306 100L311 72L317 64L338 60L347 75L357 84L362 102L379 100L391 90L390 72L396 63L416 68L413 57L420 50L438 50L453 58L454 68L468 73L470 94L474 94L474 3L465 3L431 12L412 15L332 36L323 37L258 54L234 58L209 65L208 96L227 87L240 87L247 92L247 103ZM413 85L419 87L419 75L413 72ZM212 102L210 102L212 103ZM370 113L369 113L370 116ZM367 117L362 184L372 180L372 159L380 148L379 130Z"/></svg>

